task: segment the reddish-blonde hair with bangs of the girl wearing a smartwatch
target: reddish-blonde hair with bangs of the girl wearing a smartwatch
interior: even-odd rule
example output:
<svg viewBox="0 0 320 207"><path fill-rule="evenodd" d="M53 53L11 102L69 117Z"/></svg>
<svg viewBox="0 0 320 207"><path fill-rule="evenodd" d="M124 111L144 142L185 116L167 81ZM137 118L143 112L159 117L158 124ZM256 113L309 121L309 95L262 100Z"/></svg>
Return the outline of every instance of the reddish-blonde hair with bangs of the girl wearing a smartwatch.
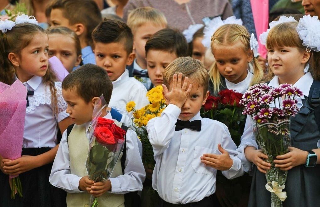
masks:
<svg viewBox="0 0 320 207"><path fill-rule="evenodd" d="M302 40L297 32L298 22L284 22L270 29L267 36L268 49L276 46L296 47L300 52L306 51L307 47L302 45ZM310 72L314 79L320 80L320 53L311 51L309 58ZM307 64L307 63L306 63ZM270 80L274 74L269 70L267 79Z"/></svg>

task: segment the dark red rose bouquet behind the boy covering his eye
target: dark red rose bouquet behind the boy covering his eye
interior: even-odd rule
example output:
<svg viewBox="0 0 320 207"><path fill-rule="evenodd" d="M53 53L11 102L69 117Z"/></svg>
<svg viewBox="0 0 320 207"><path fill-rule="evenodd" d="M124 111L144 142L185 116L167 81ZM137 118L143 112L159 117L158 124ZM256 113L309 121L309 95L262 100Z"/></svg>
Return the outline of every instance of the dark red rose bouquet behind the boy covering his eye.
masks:
<svg viewBox="0 0 320 207"><path fill-rule="evenodd" d="M228 89L220 91L218 96L207 98L201 111L202 117L224 123L237 146L240 145L245 124L245 115L242 114L244 107L239 103L242 95L242 93Z"/></svg>

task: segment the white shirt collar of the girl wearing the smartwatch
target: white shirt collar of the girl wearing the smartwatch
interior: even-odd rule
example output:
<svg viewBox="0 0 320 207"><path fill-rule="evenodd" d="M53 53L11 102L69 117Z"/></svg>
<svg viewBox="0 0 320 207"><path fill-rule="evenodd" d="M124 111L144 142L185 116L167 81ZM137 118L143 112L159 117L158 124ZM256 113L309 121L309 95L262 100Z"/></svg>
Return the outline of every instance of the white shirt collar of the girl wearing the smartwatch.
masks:
<svg viewBox="0 0 320 207"><path fill-rule="evenodd" d="M293 84L293 86L296 86L298 89L300 89L300 91L302 91L304 96L309 96L309 91L310 91L312 82L313 82L313 77L311 76L311 73L308 72L304 74L295 84ZM279 87L278 76L274 76L268 85L274 88ZM302 96L301 99L303 99L304 96Z"/></svg>

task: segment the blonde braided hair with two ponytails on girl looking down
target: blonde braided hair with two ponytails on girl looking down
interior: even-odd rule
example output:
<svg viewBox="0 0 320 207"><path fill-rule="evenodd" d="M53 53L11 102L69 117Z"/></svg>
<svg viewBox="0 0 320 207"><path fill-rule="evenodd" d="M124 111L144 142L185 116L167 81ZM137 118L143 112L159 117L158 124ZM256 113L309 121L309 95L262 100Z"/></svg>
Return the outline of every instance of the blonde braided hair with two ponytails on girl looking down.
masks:
<svg viewBox="0 0 320 207"><path fill-rule="evenodd" d="M248 30L244 26L238 24L222 25L211 37L212 51L216 46L230 47L230 45L238 46L240 44L243 46L245 52L250 51L250 35ZM216 61L213 62L212 67L209 70L209 76L213 83L213 91L215 93L219 92L221 78ZM253 77L250 86L260 83L262 78L263 70L259 65L257 58L253 56Z"/></svg>

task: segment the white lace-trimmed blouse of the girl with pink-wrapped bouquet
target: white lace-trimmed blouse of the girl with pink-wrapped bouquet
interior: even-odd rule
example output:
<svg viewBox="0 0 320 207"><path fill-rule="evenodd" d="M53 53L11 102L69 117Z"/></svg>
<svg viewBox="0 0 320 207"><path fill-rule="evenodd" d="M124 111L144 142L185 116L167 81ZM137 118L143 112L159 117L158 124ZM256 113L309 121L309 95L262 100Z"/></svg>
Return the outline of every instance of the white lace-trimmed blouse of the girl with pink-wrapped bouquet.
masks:
<svg viewBox="0 0 320 207"><path fill-rule="evenodd" d="M57 114L53 113L50 86L42 82L42 77L33 76L23 84L27 90L34 91L34 95L28 95L29 106L26 107L22 148L55 147L57 123L69 116L66 113L67 103L61 93L61 82L55 82Z"/></svg>

